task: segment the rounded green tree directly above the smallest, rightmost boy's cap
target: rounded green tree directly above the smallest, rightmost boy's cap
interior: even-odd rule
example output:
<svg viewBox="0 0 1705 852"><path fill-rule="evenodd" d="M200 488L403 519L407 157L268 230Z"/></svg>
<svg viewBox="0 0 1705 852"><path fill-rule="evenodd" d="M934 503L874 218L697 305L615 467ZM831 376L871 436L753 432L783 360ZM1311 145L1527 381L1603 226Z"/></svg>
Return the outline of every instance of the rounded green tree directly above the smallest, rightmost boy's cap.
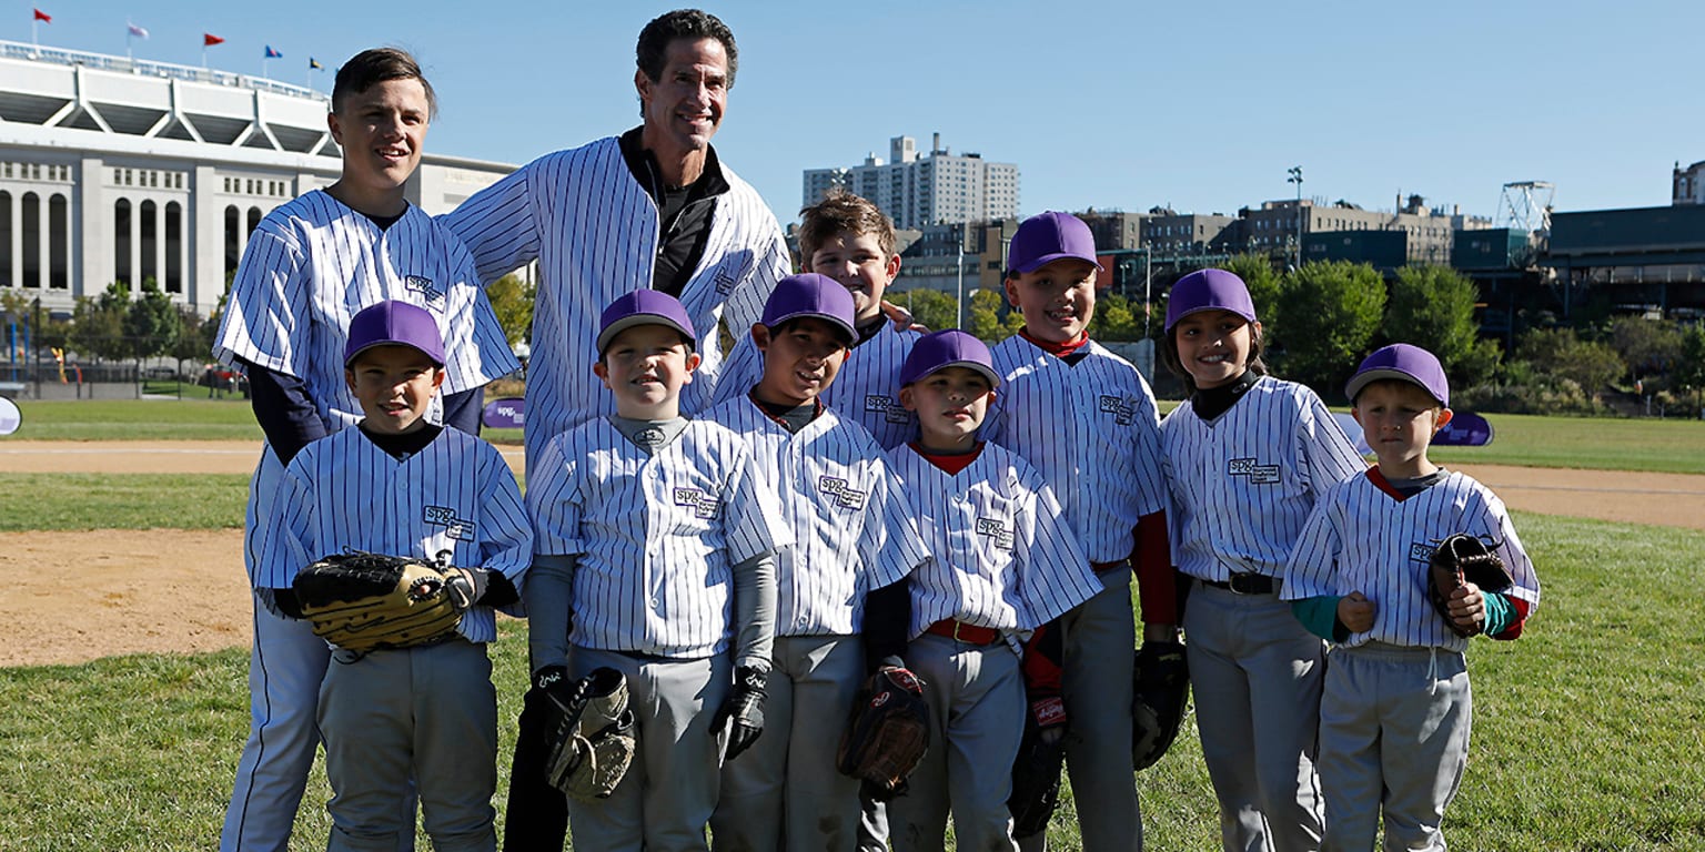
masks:
<svg viewBox="0 0 1705 852"><path fill-rule="evenodd" d="M1458 365L1475 354L1478 290L1448 266L1398 269L1379 331L1386 343L1408 343L1439 356L1444 371L1463 377Z"/></svg>

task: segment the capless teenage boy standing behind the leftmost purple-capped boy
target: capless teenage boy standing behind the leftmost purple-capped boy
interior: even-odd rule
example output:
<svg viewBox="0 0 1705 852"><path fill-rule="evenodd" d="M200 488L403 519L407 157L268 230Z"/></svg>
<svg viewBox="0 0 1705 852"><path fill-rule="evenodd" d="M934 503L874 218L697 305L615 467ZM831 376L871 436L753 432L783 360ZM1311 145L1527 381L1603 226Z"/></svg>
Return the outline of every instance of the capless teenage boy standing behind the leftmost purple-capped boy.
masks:
<svg viewBox="0 0 1705 852"><path fill-rule="evenodd" d="M350 317L394 298L433 312L443 332L445 380L428 421L479 431L481 389L520 365L479 288L472 256L411 206L404 184L419 165L435 111L431 85L396 48L358 53L338 68L327 116L343 145L343 174L261 220L249 237L213 356L252 387L266 448L249 489L244 559L264 595L259 532L276 515L285 465L302 446L361 417L341 370ZM254 607L249 740L220 850L281 850L319 745L315 700L329 653L264 596ZM414 803L397 791L414 821ZM413 835L399 849L413 849Z"/></svg>

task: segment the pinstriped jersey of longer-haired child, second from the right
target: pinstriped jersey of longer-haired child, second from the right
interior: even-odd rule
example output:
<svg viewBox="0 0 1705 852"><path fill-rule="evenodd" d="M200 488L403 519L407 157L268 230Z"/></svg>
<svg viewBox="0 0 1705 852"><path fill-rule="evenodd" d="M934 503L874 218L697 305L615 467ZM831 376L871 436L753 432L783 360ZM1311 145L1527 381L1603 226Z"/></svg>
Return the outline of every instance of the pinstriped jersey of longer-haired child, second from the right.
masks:
<svg viewBox="0 0 1705 852"><path fill-rule="evenodd" d="M1173 564L1200 579L1284 574L1315 503L1367 469L1313 390L1272 377L1212 421L1178 406L1161 446Z"/></svg>

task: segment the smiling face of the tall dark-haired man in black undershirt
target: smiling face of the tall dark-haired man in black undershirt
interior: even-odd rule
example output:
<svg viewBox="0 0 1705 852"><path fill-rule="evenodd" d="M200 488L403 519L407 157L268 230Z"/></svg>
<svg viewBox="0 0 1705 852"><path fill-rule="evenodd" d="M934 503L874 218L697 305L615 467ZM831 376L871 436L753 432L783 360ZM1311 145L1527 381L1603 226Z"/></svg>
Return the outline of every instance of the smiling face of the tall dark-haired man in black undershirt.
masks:
<svg viewBox="0 0 1705 852"><path fill-rule="evenodd" d="M658 160L704 152L728 107L728 51L716 39L675 39L663 72L651 80L634 72L644 112L641 141Z"/></svg>

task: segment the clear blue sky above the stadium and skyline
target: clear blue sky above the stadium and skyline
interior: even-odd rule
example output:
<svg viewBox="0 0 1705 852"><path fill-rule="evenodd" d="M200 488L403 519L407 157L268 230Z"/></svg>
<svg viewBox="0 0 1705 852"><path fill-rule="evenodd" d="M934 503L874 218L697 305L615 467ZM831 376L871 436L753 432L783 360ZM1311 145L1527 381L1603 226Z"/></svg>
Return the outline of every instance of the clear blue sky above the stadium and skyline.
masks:
<svg viewBox="0 0 1705 852"><path fill-rule="evenodd" d="M414 51L438 90L428 150L520 164L638 123L633 46L667 3L9 3L0 37L307 82L361 48ZM1509 181L1558 210L1669 203L1705 160L1698 0L708 2L740 73L716 147L791 222L800 172L939 131L1021 169L1021 210L1228 213L1396 194L1494 216Z"/></svg>

